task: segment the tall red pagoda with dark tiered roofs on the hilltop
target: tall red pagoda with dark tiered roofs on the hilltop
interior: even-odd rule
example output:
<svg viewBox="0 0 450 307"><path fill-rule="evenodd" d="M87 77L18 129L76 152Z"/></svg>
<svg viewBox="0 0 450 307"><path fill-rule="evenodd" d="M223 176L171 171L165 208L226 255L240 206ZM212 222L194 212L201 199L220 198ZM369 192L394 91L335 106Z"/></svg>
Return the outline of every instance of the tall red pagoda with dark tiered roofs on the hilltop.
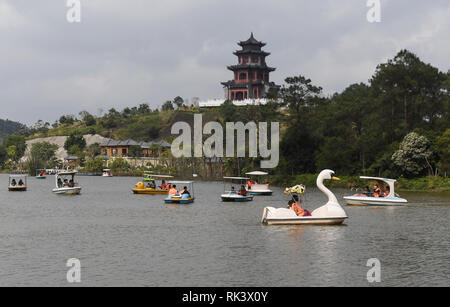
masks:
<svg viewBox="0 0 450 307"><path fill-rule="evenodd" d="M270 82L269 74L275 68L266 64L270 53L262 50L266 44L255 39L253 33L246 41L238 43L242 50L234 52L238 64L227 68L234 72L234 79L222 82L227 100L261 99L272 88L278 88Z"/></svg>

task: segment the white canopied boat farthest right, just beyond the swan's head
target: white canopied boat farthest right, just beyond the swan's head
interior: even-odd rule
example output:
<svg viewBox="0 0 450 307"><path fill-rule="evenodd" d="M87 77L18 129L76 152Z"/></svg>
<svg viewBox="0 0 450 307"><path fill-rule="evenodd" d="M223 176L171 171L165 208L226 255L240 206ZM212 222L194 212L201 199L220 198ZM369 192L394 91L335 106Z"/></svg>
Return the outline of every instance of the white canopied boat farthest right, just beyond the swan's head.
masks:
<svg viewBox="0 0 450 307"><path fill-rule="evenodd" d="M395 193L395 179L378 178L378 177L366 177L361 176L361 179L373 180L378 183L380 188L384 185L389 187L389 194L387 196L380 195L380 197L375 197L374 193L370 191L355 194L353 196L345 196L344 199L349 206L404 206L408 201L404 198L399 197Z"/></svg>

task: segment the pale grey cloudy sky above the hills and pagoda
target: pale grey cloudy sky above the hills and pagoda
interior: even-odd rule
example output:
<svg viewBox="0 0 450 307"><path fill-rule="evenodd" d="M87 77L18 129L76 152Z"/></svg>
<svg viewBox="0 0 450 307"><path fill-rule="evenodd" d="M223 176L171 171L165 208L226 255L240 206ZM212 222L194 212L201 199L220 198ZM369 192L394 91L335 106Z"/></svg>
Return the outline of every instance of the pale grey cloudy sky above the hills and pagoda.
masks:
<svg viewBox="0 0 450 307"><path fill-rule="evenodd" d="M238 41L267 43L272 81L303 75L342 92L401 49L450 70L450 1L0 0L0 118L32 125L176 96L224 98Z"/></svg>

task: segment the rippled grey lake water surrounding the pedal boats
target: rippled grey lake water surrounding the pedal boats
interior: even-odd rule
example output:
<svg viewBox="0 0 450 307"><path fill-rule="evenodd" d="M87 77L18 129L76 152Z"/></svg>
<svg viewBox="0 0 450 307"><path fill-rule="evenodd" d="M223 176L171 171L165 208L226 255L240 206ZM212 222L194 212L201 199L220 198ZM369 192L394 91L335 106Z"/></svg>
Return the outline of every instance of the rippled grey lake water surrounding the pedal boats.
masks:
<svg viewBox="0 0 450 307"><path fill-rule="evenodd" d="M381 286L450 285L448 193L344 207L343 226L263 226L265 206L286 206L281 189L222 203L223 184L203 182L194 204L170 206L133 195L136 178L78 181L80 196L53 195L53 177L11 193L0 175L0 286L67 286L69 258L81 261L82 286L370 286L370 258L381 261ZM325 202L308 191L308 209Z"/></svg>

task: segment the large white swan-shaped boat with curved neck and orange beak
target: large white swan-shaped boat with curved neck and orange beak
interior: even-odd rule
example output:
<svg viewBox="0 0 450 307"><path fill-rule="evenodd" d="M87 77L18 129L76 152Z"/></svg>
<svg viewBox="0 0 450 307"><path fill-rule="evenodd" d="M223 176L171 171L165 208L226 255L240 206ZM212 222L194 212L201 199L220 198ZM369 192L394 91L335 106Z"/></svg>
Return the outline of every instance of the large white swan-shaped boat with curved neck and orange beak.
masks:
<svg viewBox="0 0 450 307"><path fill-rule="evenodd" d="M268 225L339 225L348 218L336 196L323 184L324 180L339 180L334 177L334 171L324 170L317 177L317 187L327 197L328 202L317 208L311 216L297 216L291 209L264 208L262 223Z"/></svg>

